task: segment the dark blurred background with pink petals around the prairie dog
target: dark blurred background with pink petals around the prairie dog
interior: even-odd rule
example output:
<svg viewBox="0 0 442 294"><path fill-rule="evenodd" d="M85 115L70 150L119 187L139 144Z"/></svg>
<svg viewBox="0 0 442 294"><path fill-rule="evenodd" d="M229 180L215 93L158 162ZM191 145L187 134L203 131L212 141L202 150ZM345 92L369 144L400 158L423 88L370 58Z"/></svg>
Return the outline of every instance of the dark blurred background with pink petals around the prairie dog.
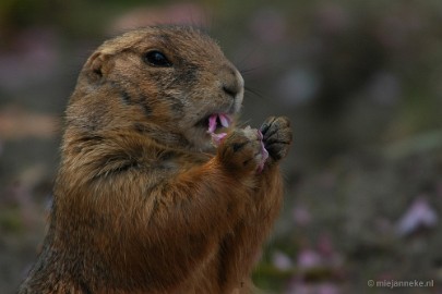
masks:
<svg viewBox="0 0 442 294"><path fill-rule="evenodd" d="M0 293L35 261L82 64L131 27L204 27L243 121L292 121L286 198L254 282L273 293L442 293L442 2L0 1ZM368 281L433 281L369 287Z"/></svg>

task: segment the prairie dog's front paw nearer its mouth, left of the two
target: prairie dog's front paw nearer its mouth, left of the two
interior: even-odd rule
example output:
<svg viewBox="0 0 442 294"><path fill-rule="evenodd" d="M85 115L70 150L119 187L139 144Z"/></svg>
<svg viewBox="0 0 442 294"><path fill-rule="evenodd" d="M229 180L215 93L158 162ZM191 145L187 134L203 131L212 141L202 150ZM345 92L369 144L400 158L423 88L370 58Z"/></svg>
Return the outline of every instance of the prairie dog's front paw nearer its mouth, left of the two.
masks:
<svg viewBox="0 0 442 294"><path fill-rule="evenodd" d="M262 139L263 135L256 128L235 130L223 140L218 157L228 169L262 171L268 157Z"/></svg>

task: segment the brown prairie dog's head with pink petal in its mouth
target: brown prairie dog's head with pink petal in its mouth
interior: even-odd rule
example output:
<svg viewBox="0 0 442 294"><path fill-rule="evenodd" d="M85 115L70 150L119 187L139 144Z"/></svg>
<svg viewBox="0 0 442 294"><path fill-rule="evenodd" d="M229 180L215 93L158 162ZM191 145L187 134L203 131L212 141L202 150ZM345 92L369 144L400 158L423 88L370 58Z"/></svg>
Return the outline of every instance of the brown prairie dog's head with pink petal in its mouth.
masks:
<svg viewBox="0 0 442 294"><path fill-rule="evenodd" d="M170 147L205 150L240 110L243 79L207 35L158 26L104 42L87 60L68 127L128 131Z"/></svg>

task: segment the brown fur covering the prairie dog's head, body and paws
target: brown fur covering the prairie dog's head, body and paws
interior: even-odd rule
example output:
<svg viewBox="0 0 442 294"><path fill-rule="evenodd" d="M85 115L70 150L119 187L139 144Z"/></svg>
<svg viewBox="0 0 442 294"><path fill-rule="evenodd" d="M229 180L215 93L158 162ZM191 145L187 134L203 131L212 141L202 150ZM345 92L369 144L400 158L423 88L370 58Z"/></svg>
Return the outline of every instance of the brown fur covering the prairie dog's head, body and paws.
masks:
<svg viewBox="0 0 442 294"><path fill-rule="evenodd" d="M150 50L172 66L145 62ZM230 127L243 84L206 35L150 27L87 60L67 110L48 234L20 293L247 293L282 200L285 118ZM228 88L226 90L225 88Z"/></svg>

